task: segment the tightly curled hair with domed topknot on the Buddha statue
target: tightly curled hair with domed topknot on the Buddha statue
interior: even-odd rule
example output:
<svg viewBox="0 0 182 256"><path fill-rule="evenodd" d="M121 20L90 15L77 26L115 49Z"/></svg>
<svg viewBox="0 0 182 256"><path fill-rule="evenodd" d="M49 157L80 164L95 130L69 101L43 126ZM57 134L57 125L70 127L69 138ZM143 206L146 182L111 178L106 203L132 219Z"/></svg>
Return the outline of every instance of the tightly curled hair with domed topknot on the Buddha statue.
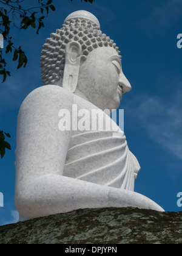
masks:
<svg viewBox="0 0 182 256"><path fill-rule="evenodd" d="M85 11L82 11L85 12ZM76 12L75 12L76 13ZM118 52L118 47L103 34L99 28L99 23L92 17L79 18L73 13L66 18L61 29L57 29L56 33L52 33L50 38L47 38L41 52L41 73L43 85L59 85L59 80L64 74L65 65L65 49L70 41L78 41L82 47L81 60L84 62L87 59L89 52L98 47L110 46ZM88 12L86 12L88 13ZM84 13L83 13L84 14ZM88 16L88 15L87 15Z"/></svg>

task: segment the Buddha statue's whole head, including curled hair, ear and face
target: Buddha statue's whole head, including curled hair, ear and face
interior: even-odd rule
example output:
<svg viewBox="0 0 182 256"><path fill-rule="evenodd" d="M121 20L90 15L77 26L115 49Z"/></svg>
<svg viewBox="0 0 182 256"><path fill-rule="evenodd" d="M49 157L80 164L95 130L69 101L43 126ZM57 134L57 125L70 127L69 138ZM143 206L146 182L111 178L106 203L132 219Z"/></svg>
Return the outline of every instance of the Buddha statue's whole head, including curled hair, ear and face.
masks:
<svg viewBox="0 0 182 256"><path fill-rule="evenodd" d="M66 88L103 110L118 108L122 95L131 90L118 47L101 32L92 13L69 15L43 48L44 85Z"/></svg>

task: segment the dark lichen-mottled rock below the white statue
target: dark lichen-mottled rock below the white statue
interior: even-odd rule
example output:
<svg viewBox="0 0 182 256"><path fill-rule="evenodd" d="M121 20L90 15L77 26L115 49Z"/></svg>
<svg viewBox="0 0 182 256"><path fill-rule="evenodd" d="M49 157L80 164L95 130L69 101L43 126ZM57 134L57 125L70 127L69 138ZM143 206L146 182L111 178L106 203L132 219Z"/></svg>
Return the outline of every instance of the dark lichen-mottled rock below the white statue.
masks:
<svg viewBox="0 0 182 256"><path fill-rule="evenodd" d="M182 244L182 212L76 210L0 227L0 244Z"/></svg>

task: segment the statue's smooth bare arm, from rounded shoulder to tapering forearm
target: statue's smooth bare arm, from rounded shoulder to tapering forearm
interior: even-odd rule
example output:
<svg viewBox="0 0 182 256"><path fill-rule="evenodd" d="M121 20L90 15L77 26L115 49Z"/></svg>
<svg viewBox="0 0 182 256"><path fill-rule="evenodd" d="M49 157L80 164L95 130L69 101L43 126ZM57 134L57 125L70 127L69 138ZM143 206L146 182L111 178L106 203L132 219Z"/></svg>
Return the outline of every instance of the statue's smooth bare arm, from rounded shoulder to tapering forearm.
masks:
<svg viewBox="0 0 182 256"><path fill-rule="evenodd" d="M58 112L64 106L71 110L73 102L59 89L38 88L21 106L15 185L18 212L34 218L79 208L143 206L160 210L140 194L62 176L72 134L59 131Z"/></svg>

